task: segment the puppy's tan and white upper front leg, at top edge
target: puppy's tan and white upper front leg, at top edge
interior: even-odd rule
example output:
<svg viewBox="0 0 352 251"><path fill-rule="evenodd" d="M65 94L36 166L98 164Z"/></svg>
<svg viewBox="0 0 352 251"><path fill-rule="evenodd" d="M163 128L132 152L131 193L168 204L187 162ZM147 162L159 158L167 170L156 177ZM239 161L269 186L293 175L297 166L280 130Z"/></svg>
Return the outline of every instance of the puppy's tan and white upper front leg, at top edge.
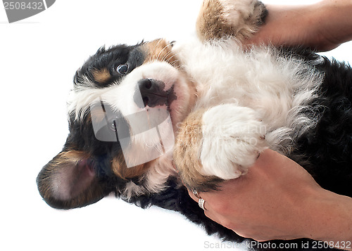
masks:
<svg viewBox="0 0 352 251"><path fill-rule="evenodd" d="M241 42L259 29L266 15L258 0L204 0L197 34L202 41L233 37Z"/></svg>

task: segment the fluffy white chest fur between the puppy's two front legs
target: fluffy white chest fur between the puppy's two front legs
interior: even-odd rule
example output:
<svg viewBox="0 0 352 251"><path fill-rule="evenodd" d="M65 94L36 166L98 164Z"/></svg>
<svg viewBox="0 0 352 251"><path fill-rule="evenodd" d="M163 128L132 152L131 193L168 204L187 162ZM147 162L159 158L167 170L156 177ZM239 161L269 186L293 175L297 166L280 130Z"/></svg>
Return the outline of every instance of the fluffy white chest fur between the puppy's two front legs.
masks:
<svg viewBox="0 0 352 251"><path fill-rule="evenodd" d="M312 124L300 114L322 82L312 65L279 56L269 47L244 52L232 41L192 41L176 50L197 84L194 110L236 103L256 110L268 131L286 130L285 134Z"/></svg>

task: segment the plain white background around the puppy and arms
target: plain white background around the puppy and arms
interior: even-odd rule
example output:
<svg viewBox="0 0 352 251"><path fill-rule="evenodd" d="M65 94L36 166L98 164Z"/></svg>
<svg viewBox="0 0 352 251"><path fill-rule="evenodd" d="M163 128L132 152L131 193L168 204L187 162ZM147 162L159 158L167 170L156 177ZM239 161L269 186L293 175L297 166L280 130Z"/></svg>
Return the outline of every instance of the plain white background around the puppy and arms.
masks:
<svg viewBox="0 0 352 251"><path fill-rule="evenodd" d="M13 24L0 7L0 250L208 250L207 244L219 243L179 214L142 210L115 198L54 210L35 183L42 166L65 143L65 101L84 60L103 44L184 39L194 34L200 4L57 0ZM350 48L344 44L329 55L352 62Z"/></svg>

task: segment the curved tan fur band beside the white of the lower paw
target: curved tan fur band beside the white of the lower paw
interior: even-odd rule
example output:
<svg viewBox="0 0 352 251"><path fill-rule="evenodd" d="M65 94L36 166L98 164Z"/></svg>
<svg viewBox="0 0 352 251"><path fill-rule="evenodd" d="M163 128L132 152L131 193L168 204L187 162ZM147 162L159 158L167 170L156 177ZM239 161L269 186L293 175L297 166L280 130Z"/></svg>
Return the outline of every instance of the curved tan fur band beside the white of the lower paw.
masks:
<svg viewBox="0 0 352 251"><path fill-rule="evenodd" d="M205 110L192 112L182 122L173 153L174 164L179 171L183 184L197 191L208 191L216 188L216 184L220 181L215 176L204 176L201 174L200 157L203 138L203 112Z"/></svg>

